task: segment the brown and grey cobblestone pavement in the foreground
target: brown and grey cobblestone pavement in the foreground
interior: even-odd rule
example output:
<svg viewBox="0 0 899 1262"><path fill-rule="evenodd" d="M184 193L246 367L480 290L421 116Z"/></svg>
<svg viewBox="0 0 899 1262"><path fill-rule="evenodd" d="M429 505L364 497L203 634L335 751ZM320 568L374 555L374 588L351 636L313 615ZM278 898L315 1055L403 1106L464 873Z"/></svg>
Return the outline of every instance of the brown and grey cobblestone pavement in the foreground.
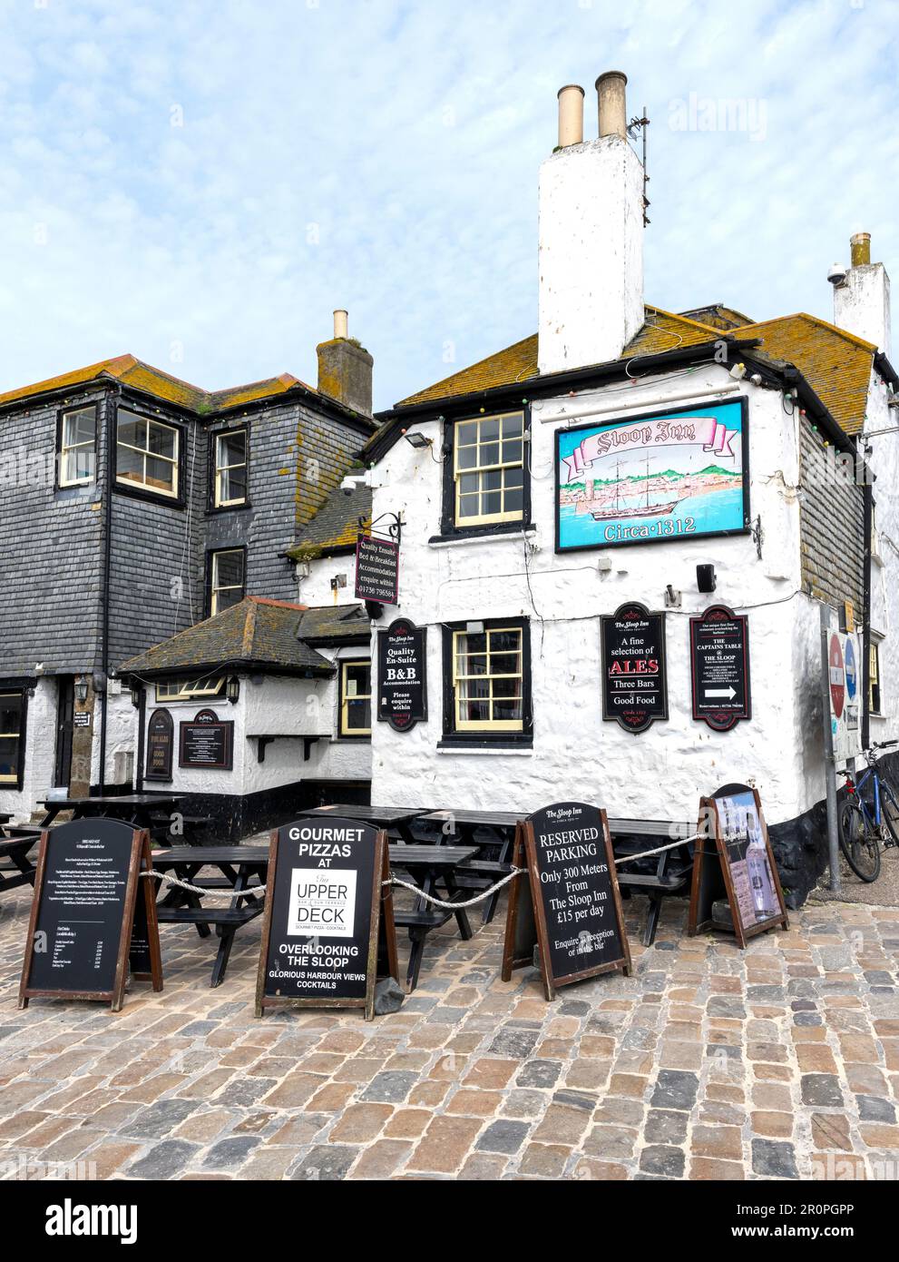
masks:
<svg viewBox="0 0 899 1262"><path fill-rule="evenodd" d="M88 1162L124 1179L815 1179L899 1171L899 910L827 904L743 953L683 902L635 977L498 977L503 909L432 935L392 1016L257 1021L258 921L224 984L163 928L165 991L117 1016L15 992L28 892L0 906L0 1177ZM90 1167L88 1167L90 1169ZM52 1172L52 1167L50 1167ZM32 1171L32 1176L34 1171Z"/></svg>

